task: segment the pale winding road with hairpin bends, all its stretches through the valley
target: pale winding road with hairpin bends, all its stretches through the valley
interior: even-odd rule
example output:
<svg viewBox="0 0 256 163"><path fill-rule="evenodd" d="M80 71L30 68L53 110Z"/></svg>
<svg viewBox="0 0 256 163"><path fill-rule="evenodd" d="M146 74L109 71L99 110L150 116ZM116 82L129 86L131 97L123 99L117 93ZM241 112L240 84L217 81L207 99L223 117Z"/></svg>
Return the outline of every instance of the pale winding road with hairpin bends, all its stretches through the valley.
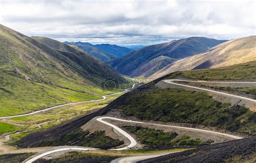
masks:
<svg viewBox="0 0 256 163"><path fill-rule="evenodd" d="M179 86L184 86L184 87L191 87L193 89L199 89L199 90L204 90L204 91L208 91L208 92L214 92L214 93L218 93L218 94L223 94L225 96L231 96L231 97L236 97L236 98L239 98L239 99L244 99L244 100L249 100L249 101L253 101L253 102L256 102L256 100L254 99L250 99L250 98L245 98L245 97L241 97L241 96L236 96L236 95L233 95L233 94L228 94L228 93L223 93L223 92L219 92L219 91L213 91L213 90L208 90L208 89L203 89L203 88L200 88L200 87L195 87L195 86L190 86L190 85L184 85L184 84L178 84L178 83L174 83L173 81L187 81L187 80L178 80L178 79L170 79L170 80L163 80L165 83L170 83L170 84L174 84L174 85L179 85ZM201 81L194 81L194 82L201 82ZM215 81L204 81L204 82L215 82ZM217 82L220 82L220 81L217 81ZM230 82L231 83L231 82ZM256 82L242 82L242 83L250 83L250 84L256 84ZM134 87L134 86L133 86ZM123 91L123 92L126 92L127 90ZM114 93L114 94L109 94L107 96L113 96L115 94L120 94L120 93L123 93L123 92L119 92L119 93ZM100 100L104 100L106 98L106 96L103 96L103 99L99 99L99 100L91 100L91 101L100 101ZM8 117L0 117L0 119L5 119L5 118L12 118L12 117L22 117L22 116L29 116L31 114L36 114L38 112L43 112L43 111L47 111L47 110L51 110L52 108L56 108L56 107L61 107L61 106L66 106L66 105L72 105L72 104L79 104L79 103L88 103L88 102L91 102L91 101L81 101L81 102L78 102L78 103L70 103L70 104L63 104L63 105L58 105L58 106L54 106L54 107L50 107L50 108L46 108L44 110L40 110L40 111L36 111L36 112L32 112L32 113L27 113L27 114L21 114L21 115L17 115L17 116L8 116ZM118 120L118 121L125 121L127 123L138 123L138 124L149 124L149 125L157 125L157 126L165 126L165 127L173 127L173 128L181 128L181 129L184 129L184 130L190 130L190 131L197 131L197 132L204 132L204 133L209 133L209 134L215 134L215 135L222 135L222 136L225 136L225 137L229 137L229 138L233 138L233 139L242 139L241 137L238 137L238 136L235 136L235 135L231 135L231 134L226 134L226 133L220 133L220 132L214 132L214 131L207 131L207 130L201 130L201 129L198 129L198 128L190 128L190 127L180 127L180 126L171 126L171 125L161 125L161 124L154 124L154 123L144 123L144 122L141 122L141 121L132 121L132 120L124 120L124 119L118 119L118 118L112 118L112 117L99 117L97 118L96 120L99 121L100 123L103 123L105 125L109 125L111 127L113 127L114 130L116 130L117 132L119 132L120 134L122 134L124 137L126 137L127 139L130 140L130 144L125 146L125 147L122 147L122 148L115 148L115 149L110 149L110 150L116 150L116 151L122 151L122 150L127 150L127 149L130 149L130 148L133 148L133 147L136 147L136 145L138 144L137 141L135 139L133 139L131 137L130 134L128 134L127 132L123 131L121 128L111 124L111 123L108 123L106 121L104 121L104 119L112 119L112 120ZM42 158L46 155L49 155L51 153L56 153L56 152L62 152L62 151L72 151L72 150L76 150L76 151L86 151L86 150L95 150L96 148L85 148L85 147L76 147L73 149L72 146L70 147L66 147L66 148L60 148L58 150L52 150L52 151L48 151L48 152L45 152L45 153L42 153L42 154L39 154L39 155L36 155L35 157L31 158L30 160L28 161L25 161L26 163L30 163L32 161L35 161L39 158ZM138 161L138 160L142 160L142 159L147 159L147 158L152 158L152 157L157 157L158 155L154 154L154 156L152 155L147 155L147 156L138 156L138 157L131 157L130 159L128 158L128 161L127 161L127 158L124 159L124 161L118 161L118 162L133 162L133 161ZM120 159L119 159L120 160Z"/></svg>

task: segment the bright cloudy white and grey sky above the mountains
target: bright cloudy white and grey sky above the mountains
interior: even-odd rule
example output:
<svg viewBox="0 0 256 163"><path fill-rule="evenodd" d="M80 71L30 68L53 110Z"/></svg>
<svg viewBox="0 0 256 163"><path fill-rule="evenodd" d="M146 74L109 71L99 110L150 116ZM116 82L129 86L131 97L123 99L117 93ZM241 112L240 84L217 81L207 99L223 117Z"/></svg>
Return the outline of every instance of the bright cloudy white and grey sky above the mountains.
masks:
<svg viewBox="0 0 256 163"><path fill-rule="evenodd" d="M255 35L255 1L5 1L0 24L28 36L149 45Z"/></svg>

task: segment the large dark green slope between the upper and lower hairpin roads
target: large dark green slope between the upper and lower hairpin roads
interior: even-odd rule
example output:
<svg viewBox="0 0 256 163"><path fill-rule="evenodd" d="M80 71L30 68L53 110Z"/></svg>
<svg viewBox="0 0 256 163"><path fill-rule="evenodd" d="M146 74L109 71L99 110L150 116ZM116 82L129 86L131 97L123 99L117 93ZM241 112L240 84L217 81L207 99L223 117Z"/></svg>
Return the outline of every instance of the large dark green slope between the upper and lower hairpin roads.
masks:
<svg viewBox="0 0 256 163"><path fill-rule="evenodd" d="M219 103L204 92L149 87L127 94L109 108L118 108L127 116L139 119L211 125L256 134L255 112L243 106Z"/></svg>

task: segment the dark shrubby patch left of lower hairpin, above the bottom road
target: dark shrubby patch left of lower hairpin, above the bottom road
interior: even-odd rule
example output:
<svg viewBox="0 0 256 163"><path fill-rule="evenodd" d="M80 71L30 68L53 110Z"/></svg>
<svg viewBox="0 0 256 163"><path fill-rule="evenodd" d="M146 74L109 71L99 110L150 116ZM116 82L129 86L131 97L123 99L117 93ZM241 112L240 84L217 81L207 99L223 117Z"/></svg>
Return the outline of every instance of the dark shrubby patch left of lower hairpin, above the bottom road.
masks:
<svg viewBox="0 0 256 163"><path fill-rule="evenodd" d="M90 133L89 131L78 129L60 138L41 141L35 147L74 145L109 149L122 145L123 143L123 141L106 136L104 131Z"/></svg>

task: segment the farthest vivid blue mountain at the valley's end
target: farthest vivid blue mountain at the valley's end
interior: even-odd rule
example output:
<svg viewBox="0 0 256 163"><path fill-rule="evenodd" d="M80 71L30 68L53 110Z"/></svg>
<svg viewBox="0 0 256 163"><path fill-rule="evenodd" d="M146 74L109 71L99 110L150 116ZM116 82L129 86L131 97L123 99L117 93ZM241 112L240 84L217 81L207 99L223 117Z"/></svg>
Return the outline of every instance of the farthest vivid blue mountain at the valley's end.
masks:
<svg viewBox="0 0 256 163"><path fill-rule="evenodd" d="M92 56L96 58L106 61L115 59L120 56L124 56L127 53L133 51L127 47L122 47L118 45L111 45L111 44L97 44L93 45L90 43L83 43L83 42L64 42L69 45L74 45L79 47L80 49L90 53Z"/></svg>

